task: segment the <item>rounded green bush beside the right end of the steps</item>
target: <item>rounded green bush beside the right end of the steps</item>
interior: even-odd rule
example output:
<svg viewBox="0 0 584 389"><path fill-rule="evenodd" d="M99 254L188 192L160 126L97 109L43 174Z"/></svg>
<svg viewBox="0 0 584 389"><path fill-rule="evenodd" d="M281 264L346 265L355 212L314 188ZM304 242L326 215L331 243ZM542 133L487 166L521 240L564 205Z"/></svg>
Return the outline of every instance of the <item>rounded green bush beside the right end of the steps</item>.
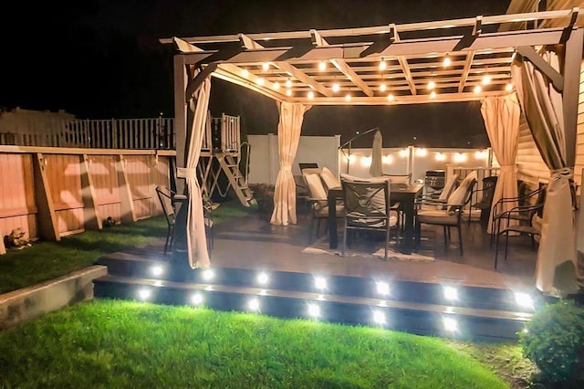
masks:
<svg viewBox="0 0 584 389"><path fill-rule="evenodd" d="M573 300L560 300L538 310L519 334L524 355L537 364L548 382L582 378L584 309Z"/></svg>

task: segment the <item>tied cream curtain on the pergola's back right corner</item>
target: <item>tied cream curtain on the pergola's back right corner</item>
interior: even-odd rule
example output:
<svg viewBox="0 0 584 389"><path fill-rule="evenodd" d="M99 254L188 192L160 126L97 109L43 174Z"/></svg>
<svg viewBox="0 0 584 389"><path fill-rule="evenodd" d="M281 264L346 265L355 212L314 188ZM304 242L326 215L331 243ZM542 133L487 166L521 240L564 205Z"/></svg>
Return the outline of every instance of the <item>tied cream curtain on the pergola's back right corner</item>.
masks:
<svg viewBox="0 0 584 389"><path fill-rule="evenodd" d="M486 133L489 136L493 152L495 152L496 160L501 164L501 173L497 179L493 195L492 204L495 205L503 197L517 196L515 161L519 139L519 102L515 94L486 98L483 100L481 113L485 120ZM503 205L504 208L501 211L507 211L517 204L516 202L509 202ZM490 222L493 216L493 212L491 212L487 225L489 233L492 233ZM516 224L516 221L513 220L510 223Z"/></svg>

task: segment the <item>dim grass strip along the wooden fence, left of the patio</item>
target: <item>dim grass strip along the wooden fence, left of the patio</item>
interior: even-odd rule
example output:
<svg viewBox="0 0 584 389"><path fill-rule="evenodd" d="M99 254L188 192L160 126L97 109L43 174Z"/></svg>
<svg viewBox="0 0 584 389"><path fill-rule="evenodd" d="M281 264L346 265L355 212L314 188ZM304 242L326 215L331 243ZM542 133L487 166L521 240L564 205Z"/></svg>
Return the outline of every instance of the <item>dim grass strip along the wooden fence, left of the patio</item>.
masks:
<svg viewBox="0 0 584 389"><path fill-rule="evenodd" d="M214 223L221 224L249 212L253 208L245 208L235 199L214 210ZM163 245L166 229L164 216L154 216L130 225L62 237L59 242L38 241L32 247L9 250L0 256L0 294L87 268L107 253L143 247L156 239L162 239Z"/></svg>

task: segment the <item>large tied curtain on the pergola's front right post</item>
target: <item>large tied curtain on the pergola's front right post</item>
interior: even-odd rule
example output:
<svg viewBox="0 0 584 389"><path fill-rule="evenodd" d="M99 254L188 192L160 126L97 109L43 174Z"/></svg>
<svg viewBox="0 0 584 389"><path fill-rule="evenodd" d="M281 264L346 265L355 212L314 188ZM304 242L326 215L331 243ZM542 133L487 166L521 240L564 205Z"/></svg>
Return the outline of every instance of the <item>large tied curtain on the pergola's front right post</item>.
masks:
<svg viewBox="0 0 584 389"><path fill-rule="evenodd" d="M547 52L544 59L558 69L558 56ZM578 290L575 213L569 180L574 166L566 162L562 97L549 80L530 62L517 60L511 66L517 95L529 129L550 170L543 224L537 251L537 289L560 296Z"/></svg>

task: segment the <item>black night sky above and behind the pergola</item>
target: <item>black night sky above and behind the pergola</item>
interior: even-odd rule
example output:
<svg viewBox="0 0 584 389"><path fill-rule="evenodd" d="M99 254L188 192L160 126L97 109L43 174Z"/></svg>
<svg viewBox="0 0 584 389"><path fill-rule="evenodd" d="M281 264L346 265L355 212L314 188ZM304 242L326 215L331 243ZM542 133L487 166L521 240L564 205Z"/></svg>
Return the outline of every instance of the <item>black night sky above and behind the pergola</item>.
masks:
<svg viewBox="0 0 584 389"><path fill-rule="evenodd" d="M381 26L505 14L509 0L82 0L13 3L3 23L0 108L66 110L78 118L172 116L174 47L161 37ZM5 14L5 18L10 17ZM274 101L214 79L211 111L241 115L248 133L276 132ZM314 107L303 133L381 127L386 147L482 146L474 103ZM416 140L413 140L413 137ZM370 140L363 140L370 143ZM471 142L471 143L468 143ZM368 146L366 146L368 147Z"/></svg>

